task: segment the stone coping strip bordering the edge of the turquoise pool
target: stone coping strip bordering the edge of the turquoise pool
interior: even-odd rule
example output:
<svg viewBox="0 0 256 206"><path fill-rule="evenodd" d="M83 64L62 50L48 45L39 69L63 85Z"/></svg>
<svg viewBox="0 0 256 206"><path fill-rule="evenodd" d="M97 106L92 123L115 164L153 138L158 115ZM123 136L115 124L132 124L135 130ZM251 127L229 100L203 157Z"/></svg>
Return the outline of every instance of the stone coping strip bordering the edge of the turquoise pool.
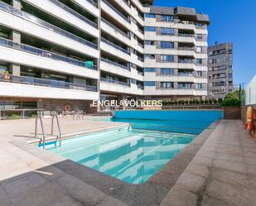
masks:
<svg viewBox="0 0 256 206"><path fill-rule="evenodd" d="M35 145L28 144L26 141L12 141L12 144L125 204L134 206L159 205L219 123L220 120L212 122L189 145L143 184L128 184L85 165L67 160L51 151L39 150L35 148ZM102 131L107 129L109 128L104 128Z"/></svg>

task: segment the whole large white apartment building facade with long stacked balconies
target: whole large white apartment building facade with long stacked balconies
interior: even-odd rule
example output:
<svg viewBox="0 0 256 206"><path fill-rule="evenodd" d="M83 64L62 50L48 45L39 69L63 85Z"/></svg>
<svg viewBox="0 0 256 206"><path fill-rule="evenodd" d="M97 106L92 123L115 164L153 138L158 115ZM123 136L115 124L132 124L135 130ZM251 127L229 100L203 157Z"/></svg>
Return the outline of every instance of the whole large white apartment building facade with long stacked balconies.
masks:
<svg viewBox="0 0 256 206"><path fill-rule="evenodd" d="M139 0L0 0L0 108L204 98L207 15Z"/></svg>

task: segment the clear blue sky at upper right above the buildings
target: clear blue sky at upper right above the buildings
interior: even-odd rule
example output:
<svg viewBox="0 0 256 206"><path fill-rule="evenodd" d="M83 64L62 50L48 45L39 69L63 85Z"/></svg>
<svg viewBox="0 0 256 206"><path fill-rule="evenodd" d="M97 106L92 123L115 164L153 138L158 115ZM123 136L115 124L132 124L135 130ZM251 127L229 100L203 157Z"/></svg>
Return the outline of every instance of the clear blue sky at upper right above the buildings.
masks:
<svg viewBox="0 0 256 206"><path fill-rule="evenodd" d="M234 84L249 83L256 74L255 0L154 0L162 7L195 7L210 16L209 45L234 44Z"/></svg>

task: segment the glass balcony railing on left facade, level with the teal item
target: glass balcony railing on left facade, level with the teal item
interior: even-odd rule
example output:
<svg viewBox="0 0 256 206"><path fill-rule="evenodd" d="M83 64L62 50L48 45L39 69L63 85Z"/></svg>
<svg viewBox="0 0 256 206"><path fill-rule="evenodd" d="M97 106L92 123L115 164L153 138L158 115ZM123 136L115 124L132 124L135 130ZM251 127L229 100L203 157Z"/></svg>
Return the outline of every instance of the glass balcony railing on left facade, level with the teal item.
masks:
<svg viewBox="0 0 256 206"><path fill-rule="evenodd" d="M52 53L48 50L41 50L41 49L37 49L36 47L33 46L27 46L24 44L18 44L14 41L10 41L7 39L3 39L0 38L0 46L6 46L15 50L22 50L28 53L31 53L33 55L39 55L39 56L43 56L45 58L49 58L52 60L60 60L60 61L64 61L66 63L69 63L71 65L76 65L76 66L80 66L80 67L84 67L86 69L94 69L97 70L97 66L93 65L92 68L87 68L85 67L85 62L81 61L81 60L75 60L73 58L70 57L66 57L65 55L57 55L56 53Z"/></svg>

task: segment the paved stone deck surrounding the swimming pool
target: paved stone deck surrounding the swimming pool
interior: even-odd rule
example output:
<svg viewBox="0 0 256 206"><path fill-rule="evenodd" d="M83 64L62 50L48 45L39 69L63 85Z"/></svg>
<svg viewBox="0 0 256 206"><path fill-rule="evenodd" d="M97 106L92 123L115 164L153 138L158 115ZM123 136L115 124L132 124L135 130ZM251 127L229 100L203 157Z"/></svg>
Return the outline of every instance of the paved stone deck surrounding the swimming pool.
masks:
<svg viewBox="0 0 256 206"><path fill-rule="evenodd" d="M60 119L65 134L124 126ZM0 122L1 206L256 206L256 141L239 120L212 124L145 184L126 184L27 143L35 120ZM50 132L51 120L46 122Z"/></svg>

